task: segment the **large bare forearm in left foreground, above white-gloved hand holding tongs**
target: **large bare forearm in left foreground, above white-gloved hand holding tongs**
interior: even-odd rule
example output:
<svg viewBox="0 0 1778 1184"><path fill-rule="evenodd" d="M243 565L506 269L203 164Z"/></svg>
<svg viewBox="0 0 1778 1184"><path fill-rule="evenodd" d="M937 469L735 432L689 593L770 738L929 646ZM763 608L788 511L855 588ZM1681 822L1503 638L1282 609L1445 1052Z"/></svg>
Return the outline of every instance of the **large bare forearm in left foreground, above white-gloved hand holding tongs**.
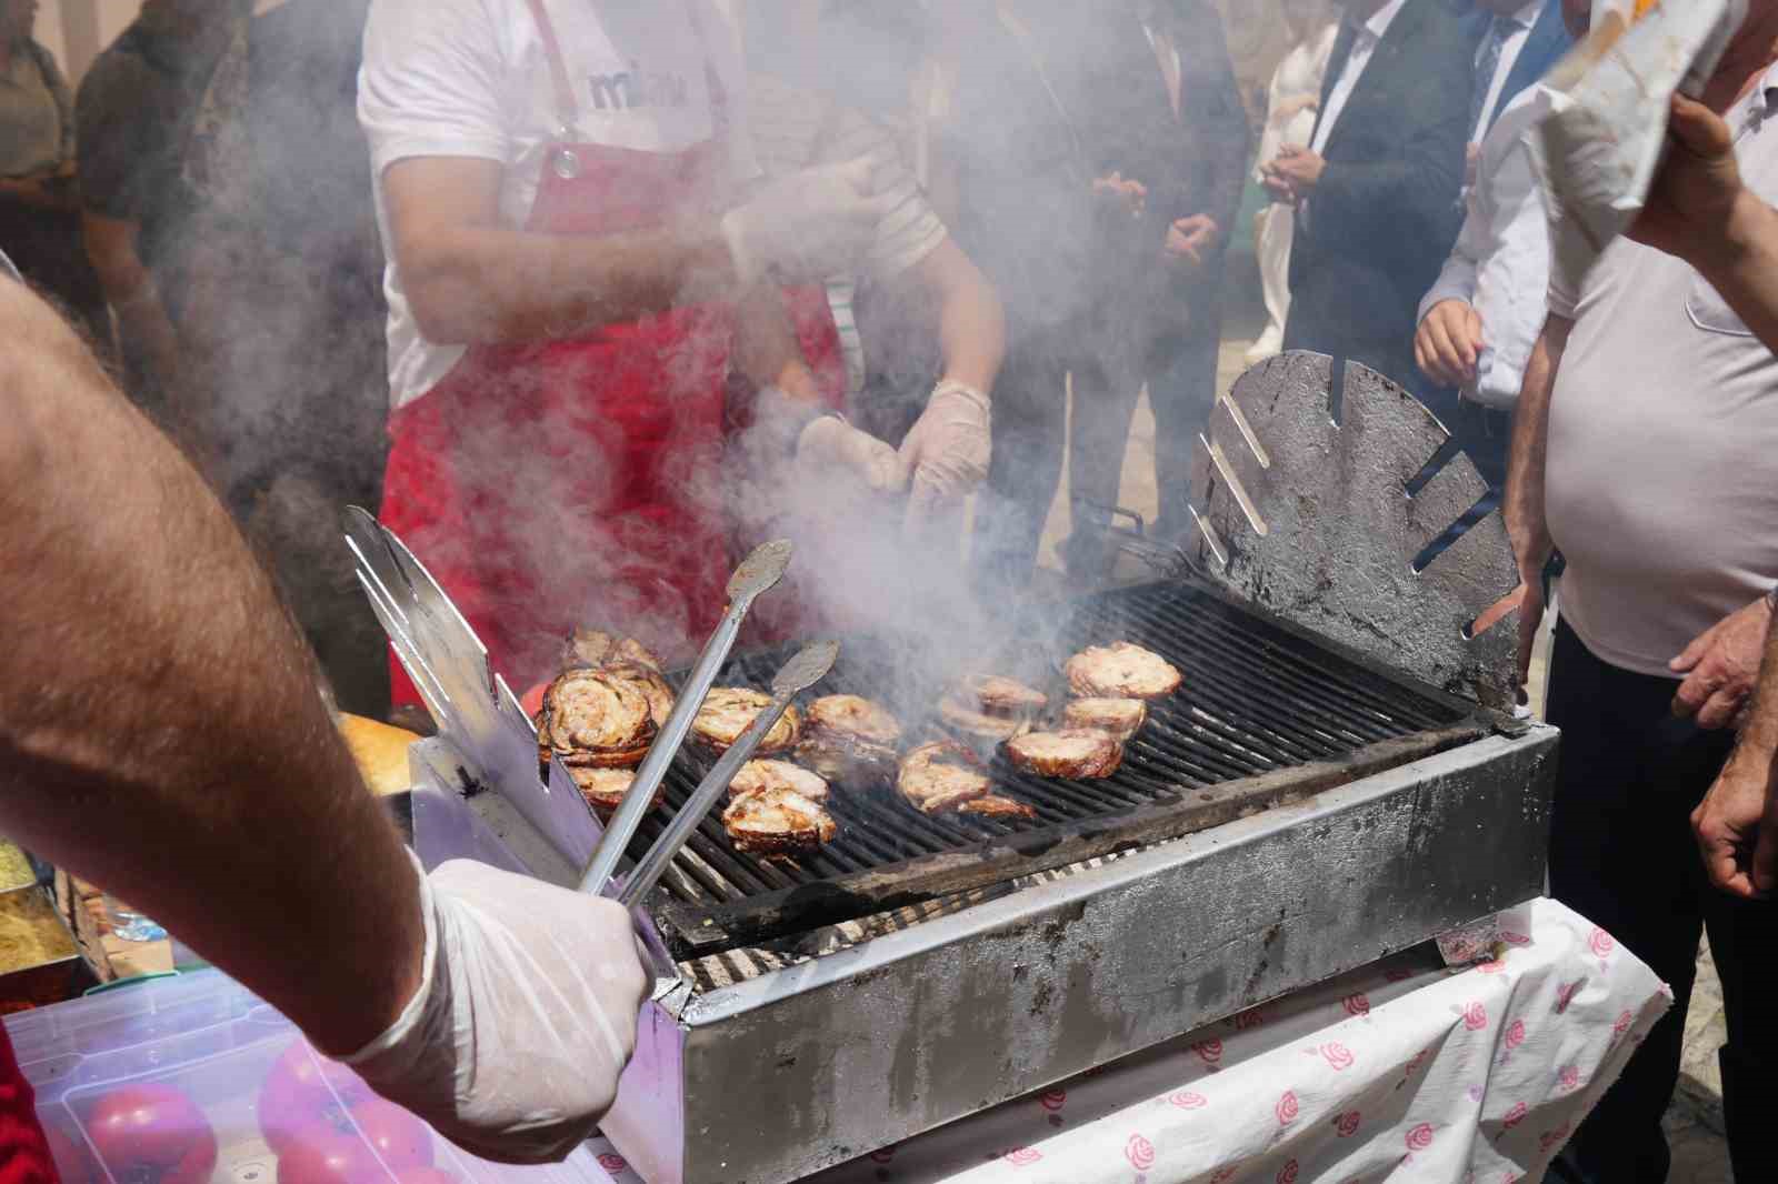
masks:
<svg viewBox="0 0 1778 1184"><path fill-rule="evenodd" d="M354 1051L418 983L400 837L197 473L46 306L0 324L0 827Z"/></svg>

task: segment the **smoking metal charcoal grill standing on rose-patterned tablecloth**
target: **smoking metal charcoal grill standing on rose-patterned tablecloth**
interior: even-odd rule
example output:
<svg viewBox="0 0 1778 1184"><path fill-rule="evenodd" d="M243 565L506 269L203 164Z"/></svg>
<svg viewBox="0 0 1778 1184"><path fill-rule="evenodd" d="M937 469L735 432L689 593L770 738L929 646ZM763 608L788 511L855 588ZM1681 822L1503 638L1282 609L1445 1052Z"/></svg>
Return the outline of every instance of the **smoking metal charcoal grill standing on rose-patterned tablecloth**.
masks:
<svg viewBox="0 0 1778 1184"><path fill-rule="evenodd" d="M1321 363L1319 395L1303 356L1269 372L1278 389L1261 391L1266 416L1236 414L1246 444L1264 450L1269 428L1253 421L1282 421L1285 398L1328 420L1337 379ZM1351 416L1366 400L1399 398L1367 372L1344 375ZM1446 444L1430 425L1401 443L1403 484ZM1204 443L1225 459L1205 469L1214 482L1237 441ZM1449 498L1451 480L1428 487ZM1045 613L1053 629L1010 631L1028 640L997 672L1056 690L1060 663L1093 642L1127 638L1181 667L1182 690L1156 706L1115 777L1045 780L994 761L1001 791L1037 811L1031 821L926 818L893 796L841 793L839 837L795 862L750 859L702 823L647 903L670 953L605 1124L644 1179L797 1180L1542 891L1556 734L1454 693L1465 686L1449 674L1456 660L1426 677L1389 661L1387 638L1334 640L1243 587L1266 583L1261 540L1289 535L1243 537L1241 521L1284 523L1266 501L1282 491L1273 471L1230 508L1225 491L1200 485L1195 564L1220 580L1115 588ZM597 825L574 809L565 775L539 782L523 713L485 656L475 667L478 645L448 603L430 592L391 601L386 585L428 580L366 523L352 540L379 612L391 636L436 654L428 672L444 688L432 704L441 736L414 748L416 844L428 859L475 853L574 884ZM1446 564L1428 558L1424 539L1410 558L1421 571ZM1303 562L1341 578L1326 555ZM1506 590L1488 576L1469 592L1449 572L1433 578L1454 599L1426 628L1458 636ZM1424 651L1408 636L1399 645ZM724 681L763 686L784 656L736 656ZM853 638L813 693L877 695L891 670L905 684L910 660L894 640ZM669 809L704 768L706 756L681 754ZM642 827L631 855L667 816Z"/></svg>

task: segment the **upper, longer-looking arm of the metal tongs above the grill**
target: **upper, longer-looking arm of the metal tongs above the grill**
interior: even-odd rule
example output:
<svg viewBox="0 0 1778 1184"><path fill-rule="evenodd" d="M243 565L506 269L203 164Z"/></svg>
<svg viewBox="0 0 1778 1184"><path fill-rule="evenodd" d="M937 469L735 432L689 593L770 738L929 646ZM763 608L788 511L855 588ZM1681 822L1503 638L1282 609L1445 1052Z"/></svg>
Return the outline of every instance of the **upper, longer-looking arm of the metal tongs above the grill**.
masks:
<svg viewBox="0 0 1778 1184"><path fill-rule="evenodd" d="M722 663L727 660L729 651L734 649L734 638L740 636L747 610L784 578L791 551L791 544L784 539L766 542L754 549L734 569L734 574L729 576L729 612L724 613L722 624L717 626L709 642L704 644L704 652L697 656L697 665L692 667L692 676L685 681L679 699L667 716L667 724L661 725L654 747L649 748L642 768L637 770L635 786L624 796L622 805L617 807L617 814L612 816L612 825L605 828L605 836L594 848L592 859L587 860L587 871L580 880L581 892L597 896L610 885L619 860L622 860L629 841L637 836L637 827L642 825L642 818L654 802L654 791L660 789L661 780L667 777L667 768L672 764L674 756L679 754L679 745L685 743L686 734L692 731L692 720L697 718L699 709L704 706L704 695L709 693L717 674L722 670Z"/></svg>

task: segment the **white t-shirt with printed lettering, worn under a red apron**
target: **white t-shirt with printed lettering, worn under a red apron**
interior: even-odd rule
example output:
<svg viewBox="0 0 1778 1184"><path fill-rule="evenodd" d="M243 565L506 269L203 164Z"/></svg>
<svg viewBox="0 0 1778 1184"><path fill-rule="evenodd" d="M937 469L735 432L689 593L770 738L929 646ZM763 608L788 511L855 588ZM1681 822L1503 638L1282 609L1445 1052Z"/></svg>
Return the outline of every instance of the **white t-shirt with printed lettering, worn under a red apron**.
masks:
<svg viewBox="0 0 1778 1184"><path fill-rule="evenodd" d="M736 180L756 174L747 144L745 71L715 0L542 0L567 60L583 144L679 153L717 130L709 75L727 105ZM546 148L560 128L542 32L525 0L375 0L364 28L359 121L377 178L377 220L391 242L384 171L412 156L505 165L500 217L523 228ZM462 347L420 334L389 258L389 396L402 407L450 373Z"/></svg>

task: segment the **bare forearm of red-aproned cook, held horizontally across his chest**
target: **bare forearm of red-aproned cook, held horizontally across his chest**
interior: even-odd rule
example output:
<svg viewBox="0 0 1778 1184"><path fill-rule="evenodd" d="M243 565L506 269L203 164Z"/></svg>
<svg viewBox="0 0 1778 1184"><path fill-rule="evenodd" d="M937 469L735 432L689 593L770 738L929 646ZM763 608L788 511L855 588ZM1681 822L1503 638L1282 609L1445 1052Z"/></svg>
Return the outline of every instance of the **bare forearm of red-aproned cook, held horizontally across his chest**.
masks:
<svg viewBox="0 0 1778 1184"><path fill-rule="evenodd" d="M542 341L637 320L734 284L711 233L537 235L466 226L404 258L421 329L439 345Z"/></svg>

